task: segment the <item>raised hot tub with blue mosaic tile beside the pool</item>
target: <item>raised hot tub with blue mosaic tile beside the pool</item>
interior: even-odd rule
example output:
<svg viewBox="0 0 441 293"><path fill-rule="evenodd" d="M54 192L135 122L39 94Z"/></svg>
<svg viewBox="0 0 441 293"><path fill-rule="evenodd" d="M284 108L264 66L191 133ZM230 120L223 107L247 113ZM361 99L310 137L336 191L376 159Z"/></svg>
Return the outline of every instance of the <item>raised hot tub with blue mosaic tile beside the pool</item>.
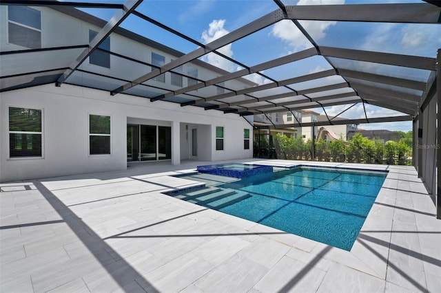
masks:
<svg viewBox="0 0 441 293"><path fill-rule="evenodd" d="M245 178L263 173L271 173L272 166L241 164L241 163L224 163L197 166L198 172L213 175L221 175L227 177Z"/></svg>

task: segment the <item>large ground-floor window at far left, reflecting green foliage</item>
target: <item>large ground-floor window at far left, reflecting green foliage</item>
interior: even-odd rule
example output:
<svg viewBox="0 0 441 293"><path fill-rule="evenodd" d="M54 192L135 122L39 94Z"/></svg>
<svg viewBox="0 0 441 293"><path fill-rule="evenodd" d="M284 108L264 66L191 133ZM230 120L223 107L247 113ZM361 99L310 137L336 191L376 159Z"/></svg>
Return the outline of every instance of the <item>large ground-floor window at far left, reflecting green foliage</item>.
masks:
<svg viewBox="0 0 441 293"><path fill-rule="evenodd" d="M10 158L41 157L41 110L9 108Z"/></svg>

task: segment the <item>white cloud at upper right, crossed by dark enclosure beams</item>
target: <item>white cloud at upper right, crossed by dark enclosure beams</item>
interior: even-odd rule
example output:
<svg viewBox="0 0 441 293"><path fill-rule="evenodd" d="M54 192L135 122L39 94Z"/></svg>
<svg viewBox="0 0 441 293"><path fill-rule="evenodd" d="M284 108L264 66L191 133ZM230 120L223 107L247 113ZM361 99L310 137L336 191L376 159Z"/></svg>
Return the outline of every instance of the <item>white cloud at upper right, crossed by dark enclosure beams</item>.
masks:
<svg viewBox="0 0 441 293"><path fill-rule="evenodd" d="M297 5L317 5L317 4L343 4L345 0L300 0ZM303 28L315 41L319 41L326 36L326 30L335 25L336 21L299 21ZM312 47L308 39L298 30L291 20L279 21L273 26L271 34L278 39L285 41L289 47L298 51Z"/></svg>

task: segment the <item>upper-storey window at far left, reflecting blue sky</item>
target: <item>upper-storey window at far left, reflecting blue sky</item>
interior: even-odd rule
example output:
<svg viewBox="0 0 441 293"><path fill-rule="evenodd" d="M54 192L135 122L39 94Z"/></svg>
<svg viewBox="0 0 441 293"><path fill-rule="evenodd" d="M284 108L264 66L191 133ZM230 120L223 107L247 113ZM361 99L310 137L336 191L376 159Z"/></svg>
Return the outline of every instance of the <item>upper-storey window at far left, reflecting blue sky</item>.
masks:
<svg viewBox="0 0 441 293"><path fill-rule="evenodd" d="M8 42L41 48L41 12L26 6L8 6Z"/></svg>

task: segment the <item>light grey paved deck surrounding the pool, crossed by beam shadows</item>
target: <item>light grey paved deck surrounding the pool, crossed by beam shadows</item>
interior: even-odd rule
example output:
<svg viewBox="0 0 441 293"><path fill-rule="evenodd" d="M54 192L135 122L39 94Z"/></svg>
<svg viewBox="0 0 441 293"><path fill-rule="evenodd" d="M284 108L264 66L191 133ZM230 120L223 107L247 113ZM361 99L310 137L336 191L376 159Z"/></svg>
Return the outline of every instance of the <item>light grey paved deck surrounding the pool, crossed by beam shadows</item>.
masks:
<svg viewBox="0 0 441 293"><path fill-rule="evenodd" d="M350 252L164 195L213 162L0 184L1 292L437 292L441 220L412 166L389 171ZM176 171L177 170L177 171ZM438 291L439 292L439 291Z"/></svg>

